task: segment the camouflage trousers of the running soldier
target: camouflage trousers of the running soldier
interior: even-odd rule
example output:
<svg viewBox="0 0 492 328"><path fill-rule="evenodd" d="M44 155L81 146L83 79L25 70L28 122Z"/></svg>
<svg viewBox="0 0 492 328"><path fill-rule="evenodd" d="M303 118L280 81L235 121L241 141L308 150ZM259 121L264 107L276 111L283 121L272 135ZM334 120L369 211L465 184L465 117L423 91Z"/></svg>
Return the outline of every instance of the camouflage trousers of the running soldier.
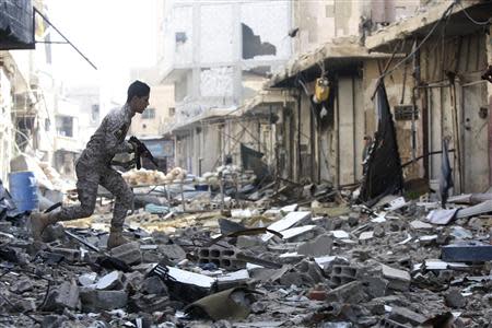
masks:
<svg viewBox="0 0 492 328"><path fill-rule="evenodd" d="M58 212L59 221L91 216L94 213L98 185L115 196L112 231L121 232L128 210L133 202L133 192L121 175L106 166L90 166L83 162L75 165L77 192L80 206L63 207Z"/></svg>

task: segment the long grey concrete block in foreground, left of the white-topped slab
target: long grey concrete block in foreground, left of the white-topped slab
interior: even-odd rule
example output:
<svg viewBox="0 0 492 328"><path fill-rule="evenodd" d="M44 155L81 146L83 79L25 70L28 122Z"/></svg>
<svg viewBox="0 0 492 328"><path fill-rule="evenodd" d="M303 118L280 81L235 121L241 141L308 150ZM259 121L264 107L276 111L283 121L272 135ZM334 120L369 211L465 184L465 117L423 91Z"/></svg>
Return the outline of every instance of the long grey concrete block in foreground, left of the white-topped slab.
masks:
<svg viewBox="0 0 492 328"><path fill-rule="evenodd" d="M82 289L80 300L83 311L98 312L125 307L128 302L128 295L125 291Z"/></svg>

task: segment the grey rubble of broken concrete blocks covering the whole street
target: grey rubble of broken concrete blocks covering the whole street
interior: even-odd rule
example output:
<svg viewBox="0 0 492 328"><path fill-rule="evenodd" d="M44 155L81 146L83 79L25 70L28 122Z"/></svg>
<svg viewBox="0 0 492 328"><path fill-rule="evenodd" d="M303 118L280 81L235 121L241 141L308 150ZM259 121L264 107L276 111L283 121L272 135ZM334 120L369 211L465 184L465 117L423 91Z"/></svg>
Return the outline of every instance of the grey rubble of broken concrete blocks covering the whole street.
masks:
<svg viewBox="0 0 492 328"><path fill-rule="evenodd" d="M97 220L84 227L55 225L44 243L34 243L27 215L0 216L0 325L492 323L488 195L452 197L448 209L402 197L367 208L320 186L301 189L311 202L267 208L245 201L243 209L201 214L136 212L125 232L132 243L110 251Z"/></svg>

